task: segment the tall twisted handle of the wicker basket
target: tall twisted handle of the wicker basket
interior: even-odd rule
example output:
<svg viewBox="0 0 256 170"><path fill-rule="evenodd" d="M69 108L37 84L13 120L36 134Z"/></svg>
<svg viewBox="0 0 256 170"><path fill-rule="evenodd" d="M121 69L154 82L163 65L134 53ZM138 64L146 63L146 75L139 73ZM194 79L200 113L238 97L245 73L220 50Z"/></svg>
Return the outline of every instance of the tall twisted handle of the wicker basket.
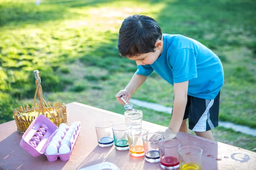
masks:
<svg viewBox="0 0 256 170"><path fill-rule="evenodd" d="M55 119L52 115L52 113L50 113L50 111L47 109L47 107L49 107L49 105L47 104L47 102L44 100L43 98L43 90L42 90L42 86L41 86L41 78L40 78L40 72L38 70L34 70L33 71L35 74L35 84L36 84L36 90L35 90L35 96L34 96L34 101L33 101L33 105L32 108L35 108L35 99L36 96L38 94L38 99L39 99L39 111L41 110L42 114L45 116L44 114L44 108L47 110L47 112L52 116L53 121L55 122Z"/></svg>

